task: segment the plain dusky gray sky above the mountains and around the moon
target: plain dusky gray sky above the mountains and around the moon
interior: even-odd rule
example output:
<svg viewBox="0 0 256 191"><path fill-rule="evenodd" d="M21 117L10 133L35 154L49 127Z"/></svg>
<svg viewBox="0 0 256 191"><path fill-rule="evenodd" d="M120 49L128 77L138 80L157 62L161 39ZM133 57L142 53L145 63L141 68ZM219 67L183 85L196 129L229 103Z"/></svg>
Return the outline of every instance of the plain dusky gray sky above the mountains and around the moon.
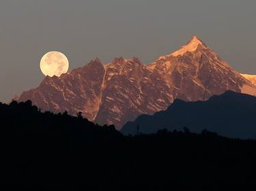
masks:
<svg viewBox="0 0 256 191"><path fill-rule="evenodd" d="M42 55L70 70L98 56L150 63L197 35L229 65L256 73L255 0L1 0L0 101L40 84Z"/></svg>

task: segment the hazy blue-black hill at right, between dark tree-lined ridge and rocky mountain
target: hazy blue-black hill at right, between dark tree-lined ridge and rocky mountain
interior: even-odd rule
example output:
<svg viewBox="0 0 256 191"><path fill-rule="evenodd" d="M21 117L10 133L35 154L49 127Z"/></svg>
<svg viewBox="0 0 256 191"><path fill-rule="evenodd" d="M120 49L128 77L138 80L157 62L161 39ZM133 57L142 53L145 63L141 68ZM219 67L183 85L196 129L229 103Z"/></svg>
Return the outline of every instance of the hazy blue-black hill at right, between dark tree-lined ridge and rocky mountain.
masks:
<svg viewBox="0 0 256 191"><path fill-rule="evenodd" d="M219 135L236 138L256 137L256 97L227 91L208 101L186 102L176 99L165 111L152 116L141 115L128 122L122 133L156 133L160 128L169 130L188 126L190 131L201 132L204 128Z"/></svg>

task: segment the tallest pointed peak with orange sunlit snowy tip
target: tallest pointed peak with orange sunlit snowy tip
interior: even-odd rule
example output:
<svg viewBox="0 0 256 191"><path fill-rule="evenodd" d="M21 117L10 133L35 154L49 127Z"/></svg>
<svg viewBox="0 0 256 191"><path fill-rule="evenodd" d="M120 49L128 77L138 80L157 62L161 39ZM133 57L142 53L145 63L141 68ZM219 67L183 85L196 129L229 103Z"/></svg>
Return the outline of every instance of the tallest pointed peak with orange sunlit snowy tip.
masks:
<svg viewBox="0 0 256 191"><path fill-rule="evenodd" d="M196 36L180 50L160 56L148 67L177 89L177 98L187 101L205 100L226 90L256 94L251 82L227 65Z"/></svg>

